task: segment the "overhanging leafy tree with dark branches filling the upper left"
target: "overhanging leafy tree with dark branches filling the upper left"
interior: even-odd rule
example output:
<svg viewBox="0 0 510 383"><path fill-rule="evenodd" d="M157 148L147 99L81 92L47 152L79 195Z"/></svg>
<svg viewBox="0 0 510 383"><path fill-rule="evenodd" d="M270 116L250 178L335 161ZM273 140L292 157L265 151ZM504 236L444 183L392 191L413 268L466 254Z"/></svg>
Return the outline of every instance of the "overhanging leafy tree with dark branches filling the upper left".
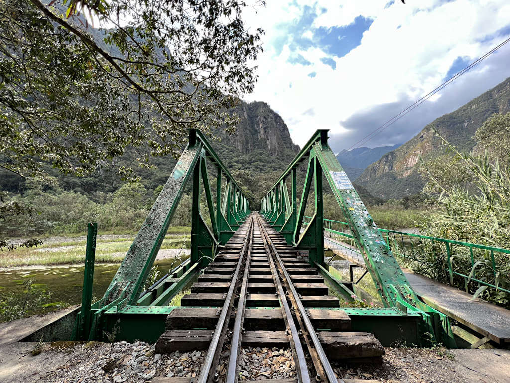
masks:
<svg viewBox="0 0 510 383"><path fill-rule="evenodd" d="M143 166L179 153L188 128L233 129L227 109L252 90L261 51L241 3L63 0L64 15L58 1L0 3L1 166L83 175L127 147ZM84 11L112 28L91 28Z"/></svg>

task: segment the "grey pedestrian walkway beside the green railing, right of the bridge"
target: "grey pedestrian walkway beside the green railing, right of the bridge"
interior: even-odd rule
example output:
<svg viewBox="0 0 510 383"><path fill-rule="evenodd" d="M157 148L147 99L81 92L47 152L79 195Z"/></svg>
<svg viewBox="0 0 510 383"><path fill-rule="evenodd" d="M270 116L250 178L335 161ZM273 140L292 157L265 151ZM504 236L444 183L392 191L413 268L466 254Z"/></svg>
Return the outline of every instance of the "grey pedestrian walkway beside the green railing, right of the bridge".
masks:
<svg viewBox="0 0 510 383"><path fill-rule="evenodd" d="M363 257L354 247L338 246L324 237L324 246L338 256L365 267ZM428 305L450 318L497 342L510 342L510 310L483 300L470 301L472 295L404 270L416 294Z"/></svg>

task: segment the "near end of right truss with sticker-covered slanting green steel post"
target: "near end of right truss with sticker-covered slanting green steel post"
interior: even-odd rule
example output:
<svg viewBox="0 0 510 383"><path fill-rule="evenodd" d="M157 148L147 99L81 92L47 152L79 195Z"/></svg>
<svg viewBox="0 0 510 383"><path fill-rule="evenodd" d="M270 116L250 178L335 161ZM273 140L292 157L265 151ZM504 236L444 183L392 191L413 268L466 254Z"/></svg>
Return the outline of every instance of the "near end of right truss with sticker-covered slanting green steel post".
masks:
<svg viewBox="0 0 510 383"><path fill-rule="evenodd" d="M343 213L343 219L352 234L352 239L363 255L365 266L375 283L377 293L385 306L406 307L419 312L425 323L421 327L422 334L428 331L436 337L437 341L448 346L454 346L454 338L448 317L423 303L412 289L358 193L335 154L329 148L327 130L317 130L315 132L284 173L268 190L264 199L268 199L273 194L273 190L278 190L278 185L287 177L289 172L292 172L295 166L307 158L307 175L304 180L292 244L299 250L309 251L309 261L312 265L317 263L318 266L323 266L322 176L324 175ZM301 233L312 179L314 180L315 214L304 232ZM269 222L271 223L271 220Z"/></svg>

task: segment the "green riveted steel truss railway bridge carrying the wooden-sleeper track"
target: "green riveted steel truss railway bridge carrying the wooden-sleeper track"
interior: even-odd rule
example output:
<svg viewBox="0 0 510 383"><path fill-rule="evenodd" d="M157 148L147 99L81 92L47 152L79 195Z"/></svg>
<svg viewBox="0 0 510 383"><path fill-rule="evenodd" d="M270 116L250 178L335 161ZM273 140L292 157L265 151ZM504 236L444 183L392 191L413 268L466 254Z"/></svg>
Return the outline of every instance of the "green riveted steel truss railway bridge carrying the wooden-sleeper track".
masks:
<svg viewBox="0 0 510 383"><path fill-rule="evenodd" d="M204 383L238 380L245 345L290 347L295 378L307 383L336 382L331 360L377 360L383 346L456 347L452 317L415 292L395 257L405 250L391 241L391 234L395 238L399 232L377 228L327 139L327 130L317 130L267 190L261 211L251 212L241 187L206 137L191 130L133 245L96 302L91 297L97 226L89 225L82 305L46 326L45 340L107 340L113 333L116 340L156 342L160 352L206 349L200 374L193 378ZM299 192L298 167L306 169ZM215 185L209 180L211 169L216 172ZM191 255L145 288L190 182ZM342 212L335 220L323 215L327 186ZM315 207L312 217L305 216L309 199ZM207 206L206 214L201 206ZM357 282L325 261L325 244L330 248L331 241L340 241L356 255L357 266L373 280L380 304L356 304ZM450 250L455 245L444 241ZM449 272L458 277L453 269ZM181 305L169 305L185 289L191 292L182 296ZM227 368L218 371L225 349Z"/></svg>

